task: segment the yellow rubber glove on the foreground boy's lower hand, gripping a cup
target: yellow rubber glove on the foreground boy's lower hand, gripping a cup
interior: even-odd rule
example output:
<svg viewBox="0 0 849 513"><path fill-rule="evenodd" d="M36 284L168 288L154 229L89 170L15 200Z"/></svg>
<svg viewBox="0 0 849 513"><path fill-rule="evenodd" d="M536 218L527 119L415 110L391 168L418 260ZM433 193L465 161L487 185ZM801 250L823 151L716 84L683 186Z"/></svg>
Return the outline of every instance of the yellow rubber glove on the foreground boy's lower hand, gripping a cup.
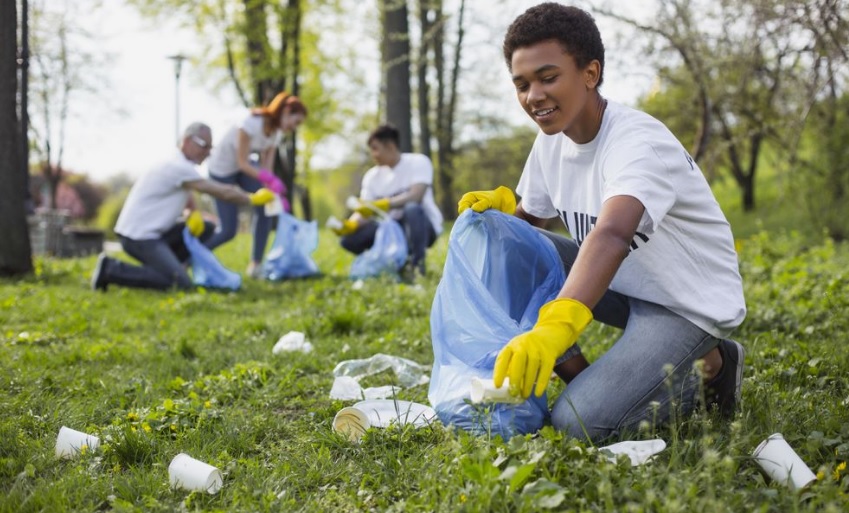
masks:
<svg viewBox="0 0 849 513"><path fill-rule="evenodd" d="M555 299L544 304L534 328L513 337L498 353L492 376L495 386L500 387L507 376L527 399L536 381L536 396L541 396L555 361L572 347L591 320L592 312L580 301Z"/></svg>

